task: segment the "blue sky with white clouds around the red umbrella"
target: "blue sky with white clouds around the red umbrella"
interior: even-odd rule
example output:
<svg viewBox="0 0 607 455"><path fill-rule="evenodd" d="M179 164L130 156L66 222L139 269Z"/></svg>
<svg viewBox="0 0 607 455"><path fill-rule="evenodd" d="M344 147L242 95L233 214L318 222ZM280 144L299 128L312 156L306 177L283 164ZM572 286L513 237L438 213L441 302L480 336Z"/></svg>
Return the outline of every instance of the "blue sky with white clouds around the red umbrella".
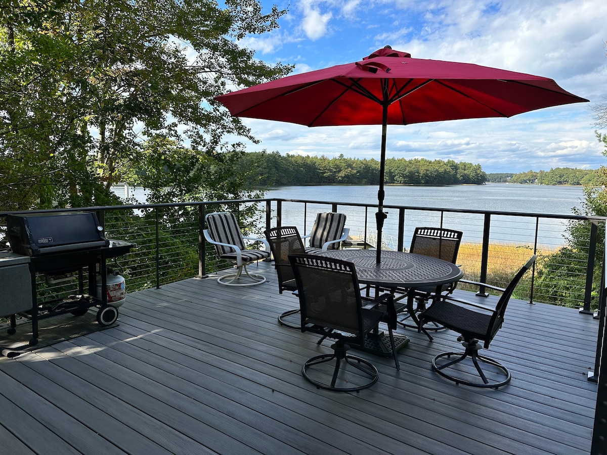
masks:
<svg viewBox="0 0 607 455"><path fill-rule="evenodd" d="M388 126L387 157L479 163L486 172L607 164L590 106L607 101L605 0L292 0L280 29L242 41L294 73L358 61L391 45L414 58L470 62L555 79L591 103L512 118ZM381 126L314 127L243 119L248 151L378 158Z"/></svg>

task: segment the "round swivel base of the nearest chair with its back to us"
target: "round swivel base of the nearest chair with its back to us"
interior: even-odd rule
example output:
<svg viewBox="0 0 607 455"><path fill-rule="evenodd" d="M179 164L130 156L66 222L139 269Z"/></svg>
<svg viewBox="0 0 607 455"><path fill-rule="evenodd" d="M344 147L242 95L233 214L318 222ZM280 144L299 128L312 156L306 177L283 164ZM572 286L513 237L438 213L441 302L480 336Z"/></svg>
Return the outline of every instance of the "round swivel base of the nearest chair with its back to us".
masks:
<svg viewBox="0 0 607 455"><path fill-rule="evenodd" d="M347 354L347 350L349 348L348 345L341 345L339 342L337 342L333 346L331 346L331 348L334 349L333 354L323 354L322 356L312 357L304 363L304 366L302 366L302 374L304 375L305 379L315 385L316 388L330 390L333 392L358 393L362 389L366 389L378 382L379 372L378 369L375 368L375 365L373 365L373 363L368 362L368 360L362 359L362 357L351 356L350 354ZM333 360L335 362L335 367L333 369L331 383L320 382L319 380L313 379L310 374L308 374L308 369L311 366L319 365L320 363L331 362ZM345 361L346 365L344 366L353 366L354 368L358 369L366 376L368 376L370 379L362 385L356 385L356 383L350 382L347 379L339 378L339 372L343 371L343 369L341 369L342 360ZM319 372L319 374L322 373ZM341 383L348 384L348 386L340 386Z"/></svg>

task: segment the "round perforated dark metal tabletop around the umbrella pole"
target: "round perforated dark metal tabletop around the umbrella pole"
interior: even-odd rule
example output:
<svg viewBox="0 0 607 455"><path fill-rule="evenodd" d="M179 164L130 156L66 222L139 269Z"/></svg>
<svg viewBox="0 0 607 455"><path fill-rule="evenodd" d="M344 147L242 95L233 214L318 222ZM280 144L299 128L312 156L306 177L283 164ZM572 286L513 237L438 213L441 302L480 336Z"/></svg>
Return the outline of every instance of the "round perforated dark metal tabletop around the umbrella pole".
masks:
<svg viewBox="0 0 607 455"><path fill-rule="evenodd" d="M342 249L323 252L323 256L350 261L356 266L358 280L365 284L402 286L440 286L459 280L463 272L442 259L400 251L382 251L376 265L376 251Z"/></svg>

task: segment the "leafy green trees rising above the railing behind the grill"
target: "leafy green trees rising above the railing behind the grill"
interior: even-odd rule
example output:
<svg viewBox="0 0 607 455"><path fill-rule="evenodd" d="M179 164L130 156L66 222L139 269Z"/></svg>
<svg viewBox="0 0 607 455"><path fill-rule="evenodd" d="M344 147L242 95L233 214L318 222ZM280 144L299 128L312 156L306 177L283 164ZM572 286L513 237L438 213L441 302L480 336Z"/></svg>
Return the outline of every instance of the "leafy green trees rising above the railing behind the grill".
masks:
<svg viewBox="0 0 607 455"><path fill-rule="evenodd" d="M188 178L212 186L190 171L204 168L208 177L230 164L223 153L243 153L226 134L254 141L214 96L290 71L239 45L276 28L284 13L276 6L263 13L256 0L225 0L222 8L206 0L2 4L4 210L104 204L118 181L166 186L175 174L160 171L171 167L182 171L181 186ZM167 167L151 169L152 153Z"/></svg>

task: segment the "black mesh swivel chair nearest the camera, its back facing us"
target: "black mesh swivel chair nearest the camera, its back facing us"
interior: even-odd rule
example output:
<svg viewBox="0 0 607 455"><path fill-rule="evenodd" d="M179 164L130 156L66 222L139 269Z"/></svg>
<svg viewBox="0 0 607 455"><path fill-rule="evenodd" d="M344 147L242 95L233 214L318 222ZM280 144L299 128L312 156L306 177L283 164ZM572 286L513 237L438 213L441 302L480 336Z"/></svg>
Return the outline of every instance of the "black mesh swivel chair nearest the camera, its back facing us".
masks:
<svg viewBox="0 0 607 455"><path fill-rule="evenodd" d="M384 294L375 300L361 297L351 262L309 254L289 258L297 282L302 332L322 335L321 341L336 340L332 354L312 357L304 363L305 379L317 388L336 392L358 392L375 384L379 376L375 365L348 354L348 350L350 346L364 346L365 336L389 313L393 295ZM396 369L400 369L391 325L388 330ZM345 368L341 368L342 360ZM346 369L348 365L354 370Z"/></svg>

